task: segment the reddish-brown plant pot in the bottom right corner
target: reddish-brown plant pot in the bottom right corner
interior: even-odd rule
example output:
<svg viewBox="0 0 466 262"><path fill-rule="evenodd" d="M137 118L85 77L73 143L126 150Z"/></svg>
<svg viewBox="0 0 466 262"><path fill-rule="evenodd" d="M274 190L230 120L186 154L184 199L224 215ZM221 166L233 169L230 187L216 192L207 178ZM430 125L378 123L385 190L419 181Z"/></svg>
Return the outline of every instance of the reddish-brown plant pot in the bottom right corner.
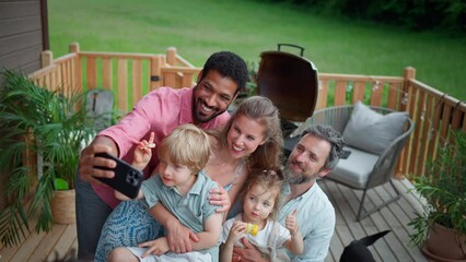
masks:
<svg viewBox="0 0 466 262"><path fill-rule="evenodd" d="M422 253L434 261L466 262L466 236L457 236L454 230L435 224L429 231Z"/></svg>

